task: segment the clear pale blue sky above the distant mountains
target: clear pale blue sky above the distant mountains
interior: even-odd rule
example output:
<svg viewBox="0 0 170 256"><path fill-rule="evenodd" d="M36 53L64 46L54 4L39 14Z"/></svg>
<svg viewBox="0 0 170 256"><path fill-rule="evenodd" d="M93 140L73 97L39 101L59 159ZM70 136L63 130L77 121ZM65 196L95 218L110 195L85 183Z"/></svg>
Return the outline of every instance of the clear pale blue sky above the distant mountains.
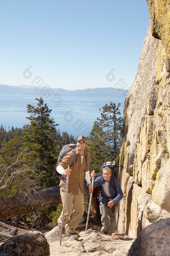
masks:
<svg viewBox="0 0 170 256"><path fill-rule="evenodd" d="M131 86L146 0L0 0L0 10L1 84L31 85L39 76L53 88L115 87L119 79Z"/></svg>

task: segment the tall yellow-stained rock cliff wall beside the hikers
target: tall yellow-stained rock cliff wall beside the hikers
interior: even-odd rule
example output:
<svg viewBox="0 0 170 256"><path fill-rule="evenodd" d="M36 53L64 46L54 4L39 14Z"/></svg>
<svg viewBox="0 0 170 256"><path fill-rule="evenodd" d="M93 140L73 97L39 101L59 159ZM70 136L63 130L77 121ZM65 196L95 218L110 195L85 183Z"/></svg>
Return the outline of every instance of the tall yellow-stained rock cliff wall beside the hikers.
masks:
<svg viewBox="0 0 170 256"><path fill-rule="evenodd" d="M118 175L124 196L116 212L117 231L133 237L155 220L170 217L169 41L161 30L160 13L155 12L158 2L148 0L150 22L125 98L120 134Z"/></svg>

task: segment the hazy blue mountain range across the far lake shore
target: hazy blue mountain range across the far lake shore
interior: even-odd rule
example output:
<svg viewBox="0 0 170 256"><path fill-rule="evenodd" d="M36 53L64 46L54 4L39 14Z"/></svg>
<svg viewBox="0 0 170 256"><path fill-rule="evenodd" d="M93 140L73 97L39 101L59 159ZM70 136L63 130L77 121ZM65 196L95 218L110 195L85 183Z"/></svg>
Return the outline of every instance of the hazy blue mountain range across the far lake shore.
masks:
<svg viewBox="0 0 170 256"><path fill-rule="evenodd" d="M65 90L62 88L48 87L48 91L57 93L59 96L84 96L84 97L123 97L125 98L128 90L99 87L94 89L76 89ZM34 87L32 85L6 85L0 84L0 93L19 94L19 95L43 95L44 88Z"/></svg>

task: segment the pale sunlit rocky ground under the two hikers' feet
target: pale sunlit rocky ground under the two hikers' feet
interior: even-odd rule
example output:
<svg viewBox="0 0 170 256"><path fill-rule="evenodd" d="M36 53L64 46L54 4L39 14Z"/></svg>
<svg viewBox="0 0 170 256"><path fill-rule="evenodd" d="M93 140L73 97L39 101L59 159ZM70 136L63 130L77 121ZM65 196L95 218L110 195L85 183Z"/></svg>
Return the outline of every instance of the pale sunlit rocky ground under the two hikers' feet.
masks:
<svg viewBox="0 0 170 256"><path fill-rule="evenodd" d="M53 228L45 234L50 247L50 256L56 256L56 253L57 256L80 256L85 254L88 256L107 256L110 253L112 256L125 256L134 241L134 239L122 234L113 233L110 236L92 229L87 231L86 236L85 231L80 231L80 237L77 240L63 236L60 246L58 228Z"/></svg>

